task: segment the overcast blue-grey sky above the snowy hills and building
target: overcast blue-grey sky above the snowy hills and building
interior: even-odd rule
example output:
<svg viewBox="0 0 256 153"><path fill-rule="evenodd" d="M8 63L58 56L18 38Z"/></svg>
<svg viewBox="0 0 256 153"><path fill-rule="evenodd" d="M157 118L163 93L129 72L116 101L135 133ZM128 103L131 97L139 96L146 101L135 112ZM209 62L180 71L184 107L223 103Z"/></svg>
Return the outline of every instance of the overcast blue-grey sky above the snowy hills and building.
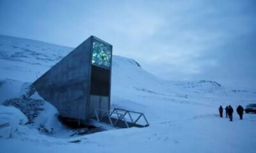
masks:
<svg viewBox="0 0 256 153"><path fill-rule="evenodd" d="M165 80L256 89L255 0L0 0L0 34L68 47L94 35Z"/></svg>

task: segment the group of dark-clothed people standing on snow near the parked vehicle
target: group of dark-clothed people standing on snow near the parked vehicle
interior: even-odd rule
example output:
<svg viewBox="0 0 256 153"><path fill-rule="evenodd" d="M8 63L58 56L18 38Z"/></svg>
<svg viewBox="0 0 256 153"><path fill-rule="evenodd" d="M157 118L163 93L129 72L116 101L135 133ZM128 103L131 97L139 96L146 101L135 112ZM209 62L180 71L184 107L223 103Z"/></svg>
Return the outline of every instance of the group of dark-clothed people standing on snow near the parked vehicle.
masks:
<svg viewBox="0 0 256 153"><path fill-rule="evenodd" d="M219 112L220 112L220 117L223 117L223 107L222 106L219 107ZM231 105L226 106L226 108L225 108L226 117L228 117L230 119L230 121L233 120L233 112L234 112L234 110ZM240 119L242 120L243 112L244 112L243 106L241 106L241 105L237 106L236 112L238 113Z"/></svg>

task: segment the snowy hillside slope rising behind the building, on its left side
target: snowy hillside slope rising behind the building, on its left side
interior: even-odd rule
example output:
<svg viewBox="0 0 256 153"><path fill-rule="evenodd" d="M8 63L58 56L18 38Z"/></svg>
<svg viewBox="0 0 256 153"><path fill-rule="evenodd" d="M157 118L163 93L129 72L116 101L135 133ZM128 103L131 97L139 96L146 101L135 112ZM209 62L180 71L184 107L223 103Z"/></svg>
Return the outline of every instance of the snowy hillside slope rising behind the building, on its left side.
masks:
<svg viewBox="0 0 256 153"><path fill-rule="evenodd" d="M41 41L0 36L0 76L33 82L71 50Z"/></svg>

